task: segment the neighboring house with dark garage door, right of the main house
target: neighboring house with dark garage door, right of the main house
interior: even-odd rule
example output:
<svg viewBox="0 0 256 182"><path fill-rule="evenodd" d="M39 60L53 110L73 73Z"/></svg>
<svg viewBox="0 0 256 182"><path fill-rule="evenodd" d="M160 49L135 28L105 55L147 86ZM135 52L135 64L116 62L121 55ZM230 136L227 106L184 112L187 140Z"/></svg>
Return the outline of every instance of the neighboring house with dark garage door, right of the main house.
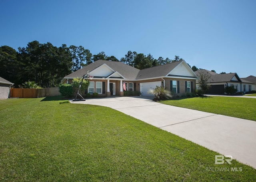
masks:
<svg viewBox="0 0 256 182"><path fill-rule="evenodd" d="M237 92L248 92L251 91L252 88L252 82L239 78L236 73L218 74L206 69L197 70L195 73L198 77L200 73L211 76L208 80L211 88L206 92L206 94L225 94L224 88L232 85L237 89ZM199 88L198 85L197 80L196 88Z"/></svg>

